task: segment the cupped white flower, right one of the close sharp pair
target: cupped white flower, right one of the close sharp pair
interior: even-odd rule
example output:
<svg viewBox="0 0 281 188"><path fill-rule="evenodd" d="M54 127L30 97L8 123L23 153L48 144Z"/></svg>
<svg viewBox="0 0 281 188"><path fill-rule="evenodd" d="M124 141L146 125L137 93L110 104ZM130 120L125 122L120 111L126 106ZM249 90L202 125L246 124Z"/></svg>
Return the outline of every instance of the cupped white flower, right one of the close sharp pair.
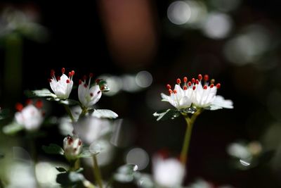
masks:
<svg viewBox="0 0 281 188"><path fill-rule="evenodd" d="M100 100L102 93L98 84L90 88L91 77L93 77L93 74L90 74L88 84L86 84L86 76L84 76L84 81L79 80L78 98L81 104L86 108L90 108L96 104L98 100Z"/></svg>

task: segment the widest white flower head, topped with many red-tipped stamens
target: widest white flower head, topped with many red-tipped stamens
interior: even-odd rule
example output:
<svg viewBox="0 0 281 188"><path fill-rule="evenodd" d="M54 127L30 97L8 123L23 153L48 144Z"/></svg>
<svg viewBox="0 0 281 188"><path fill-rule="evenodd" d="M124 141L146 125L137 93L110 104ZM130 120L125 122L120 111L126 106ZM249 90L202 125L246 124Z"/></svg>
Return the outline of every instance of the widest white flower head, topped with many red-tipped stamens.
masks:
<svg viewBox="0 0 281 188"><path fill-rule="evenodd" d="M183 77L183 86L181 87L181 79L176 80L177 84L174 90L171 85L167 84L169 96L161 94L162 101L168 101L177 109L188 108L209 108L216 110L219 108L233 108L233 102L223 99L223 96L216 96L217 89L221 84L215 84L215 80L209 81L209 75L198 75L198 79L192 78L188 82L188 77Z"/></svg>

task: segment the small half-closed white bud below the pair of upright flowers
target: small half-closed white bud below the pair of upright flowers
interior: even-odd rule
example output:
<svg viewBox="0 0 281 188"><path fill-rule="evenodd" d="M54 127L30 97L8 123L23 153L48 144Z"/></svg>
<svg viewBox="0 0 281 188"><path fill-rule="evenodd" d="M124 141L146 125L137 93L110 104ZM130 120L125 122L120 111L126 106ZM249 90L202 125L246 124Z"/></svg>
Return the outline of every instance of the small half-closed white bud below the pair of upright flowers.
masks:
<svg viewBox="0 0 281 188"><path fill-rule="evenodd" d="M78 137L68 135L63 139L63 149L67 160L75 160L82 151L82 141Z"/></svg>

